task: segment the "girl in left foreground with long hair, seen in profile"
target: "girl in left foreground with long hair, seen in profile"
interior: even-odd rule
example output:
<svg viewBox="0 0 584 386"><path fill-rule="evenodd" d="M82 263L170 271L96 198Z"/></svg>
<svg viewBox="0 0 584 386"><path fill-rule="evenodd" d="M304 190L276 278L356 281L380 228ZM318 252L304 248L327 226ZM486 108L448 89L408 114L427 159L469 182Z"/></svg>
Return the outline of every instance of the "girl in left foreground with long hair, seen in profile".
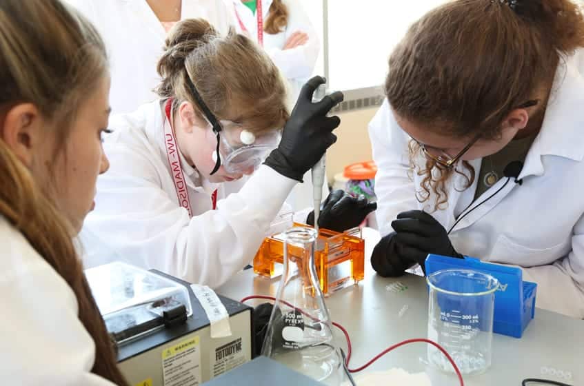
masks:
<svg viewBox="0 0 584 386"><path fill-rule="evenodd" d="M0 20L0 379L125 386L72 242L108 169L105 46L57 0Z"/></svg>

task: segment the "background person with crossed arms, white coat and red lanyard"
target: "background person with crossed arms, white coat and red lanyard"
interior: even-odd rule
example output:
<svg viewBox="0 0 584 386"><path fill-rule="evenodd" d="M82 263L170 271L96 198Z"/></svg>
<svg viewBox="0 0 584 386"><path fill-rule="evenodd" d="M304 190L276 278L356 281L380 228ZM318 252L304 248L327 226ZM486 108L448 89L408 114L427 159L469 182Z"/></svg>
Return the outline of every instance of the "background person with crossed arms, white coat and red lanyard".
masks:
<svg viewBox="0 0 584 386"><path fill-rule="evenodd" d="M298 0L223 0L232 12L232 23L263 47L283 76L288 79L288 105L294 105L301 86L312 77L321 43L308 15ZM263 28L258 28L262 25ZM295 211L312 205L310 172L307 183L294 186L286 202ZM323 196L329 194L323 186Z"/></svg>

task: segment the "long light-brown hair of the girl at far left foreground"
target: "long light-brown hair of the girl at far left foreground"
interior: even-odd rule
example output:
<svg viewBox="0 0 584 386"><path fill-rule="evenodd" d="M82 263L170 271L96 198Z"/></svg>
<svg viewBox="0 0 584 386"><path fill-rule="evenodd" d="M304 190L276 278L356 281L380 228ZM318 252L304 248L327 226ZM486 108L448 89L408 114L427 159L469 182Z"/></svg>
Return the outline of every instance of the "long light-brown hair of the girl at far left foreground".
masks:
<svg viewBox="0 0 584 386"><path fill-rule="evenodd" d="M54 123L61 148L70 122L108 72L103 41L91 24L58 0L0 2L0 121L32 103ZM55 154L61 149L56 149ZM96 345L92 372L125 385L108 332L72 243L72 225L27 167L0 140L0 215L17 228L73 290L79 320Z"/></svg>

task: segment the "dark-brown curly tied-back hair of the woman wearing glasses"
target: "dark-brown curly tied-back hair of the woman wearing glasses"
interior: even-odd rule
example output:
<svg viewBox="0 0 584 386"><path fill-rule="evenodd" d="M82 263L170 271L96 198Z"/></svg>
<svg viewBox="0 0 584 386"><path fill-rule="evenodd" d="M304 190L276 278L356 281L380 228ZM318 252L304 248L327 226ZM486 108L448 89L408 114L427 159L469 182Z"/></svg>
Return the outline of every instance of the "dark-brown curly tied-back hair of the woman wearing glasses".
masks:
<svg viewBox="0 0 584 386"><path fill-rule="evenodd" d="M534 99L561 59L584 46L584 19L570 0L456 0L416 21L390 57L385 94L402 119L446 136L496 139L516 106ZM545 108L545 106L544 106ZM410 159L419 151L410 148ZM413 166L413 165L412 165ZM427 162L420 201L447 202L446 170ZM463 162L468 186L474 170Z"/></svg>

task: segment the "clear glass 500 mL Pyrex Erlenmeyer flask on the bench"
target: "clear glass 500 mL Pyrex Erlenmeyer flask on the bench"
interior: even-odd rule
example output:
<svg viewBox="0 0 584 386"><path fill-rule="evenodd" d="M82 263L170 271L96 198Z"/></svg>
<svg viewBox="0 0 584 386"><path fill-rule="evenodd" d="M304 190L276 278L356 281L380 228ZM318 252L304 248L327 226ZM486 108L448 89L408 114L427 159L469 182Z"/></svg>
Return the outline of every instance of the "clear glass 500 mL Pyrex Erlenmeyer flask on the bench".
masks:
<svg viewBox="0 0 584 386"><path fill-rule="evenodd" d="M316 230L285 232L284 266L262 355L327 385L345 380L339 347L314 268Z"/></svg>

